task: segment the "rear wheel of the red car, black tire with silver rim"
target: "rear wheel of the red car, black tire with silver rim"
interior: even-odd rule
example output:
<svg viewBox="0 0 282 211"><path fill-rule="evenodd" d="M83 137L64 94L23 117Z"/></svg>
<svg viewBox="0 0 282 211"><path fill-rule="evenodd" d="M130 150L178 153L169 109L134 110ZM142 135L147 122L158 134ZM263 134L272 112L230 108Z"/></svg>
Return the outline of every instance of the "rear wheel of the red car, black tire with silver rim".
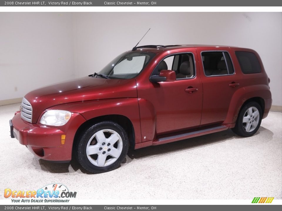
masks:
<svg viewBox="0 0 282 211"><path fill-rule="evenodd" d="M243 137L254 135L261 125L262 110L259 103L247 103L240 111L233 132Z"/></svg>

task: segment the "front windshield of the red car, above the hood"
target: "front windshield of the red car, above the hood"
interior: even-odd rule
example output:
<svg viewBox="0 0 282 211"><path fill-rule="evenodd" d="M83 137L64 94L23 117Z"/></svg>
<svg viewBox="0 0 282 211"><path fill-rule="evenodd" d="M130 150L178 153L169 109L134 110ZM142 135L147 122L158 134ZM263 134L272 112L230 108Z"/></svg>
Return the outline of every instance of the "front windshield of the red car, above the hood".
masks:
<svg viewBox="0 0 282 211"><path fill-rule="evenodd" d="M137 76L154 56L152 52L125 52L104 67L99 74L110 79L131 79Z"/></svg>

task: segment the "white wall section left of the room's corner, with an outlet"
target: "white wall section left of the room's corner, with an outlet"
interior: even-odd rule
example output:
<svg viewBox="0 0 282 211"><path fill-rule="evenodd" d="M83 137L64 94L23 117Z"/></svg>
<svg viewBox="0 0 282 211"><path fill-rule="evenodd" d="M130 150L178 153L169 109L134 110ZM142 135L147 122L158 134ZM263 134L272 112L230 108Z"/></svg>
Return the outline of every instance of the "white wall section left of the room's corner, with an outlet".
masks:
<svg viewBox="0 0 282 211"><path fill-rule="evenodd" d="M73 52L73 14L0 13L0 100L73 78Z"/></svg>

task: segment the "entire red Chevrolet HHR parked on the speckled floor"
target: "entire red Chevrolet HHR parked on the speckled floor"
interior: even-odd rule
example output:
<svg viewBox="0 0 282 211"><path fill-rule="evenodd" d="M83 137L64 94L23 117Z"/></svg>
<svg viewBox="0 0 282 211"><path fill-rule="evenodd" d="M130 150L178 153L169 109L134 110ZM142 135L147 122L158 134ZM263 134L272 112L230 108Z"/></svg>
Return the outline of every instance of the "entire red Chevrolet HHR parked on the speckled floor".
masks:
<svg viewBox="0 0 282 211"><path fill-rule="evenodd" d="M129 147L229 128L254 135L271 107L269 81L251 49L135 47L98 73L26 94L11 137L41 159L70 161L75 153L86 170L110 171Z"/></svg>

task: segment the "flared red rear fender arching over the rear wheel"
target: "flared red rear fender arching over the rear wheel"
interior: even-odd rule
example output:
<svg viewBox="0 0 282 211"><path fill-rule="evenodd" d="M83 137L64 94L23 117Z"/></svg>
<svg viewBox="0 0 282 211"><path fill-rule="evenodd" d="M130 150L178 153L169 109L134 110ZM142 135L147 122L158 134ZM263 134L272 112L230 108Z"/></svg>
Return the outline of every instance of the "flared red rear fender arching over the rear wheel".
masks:
<svg viewBox="0 0 282 211"><path fill-rule="evenodd" d="M270 109L269 103L266 103L268 98L271 98L269 87L264 84L245 86L238 89L232 96L230 101L229 110L223 124L236 123L237 116L242 105L250 98L260 97L265 101L265 108ZM268 102L268 101L267 101ZM269 108L268 108L269 107Z"/></svg>

